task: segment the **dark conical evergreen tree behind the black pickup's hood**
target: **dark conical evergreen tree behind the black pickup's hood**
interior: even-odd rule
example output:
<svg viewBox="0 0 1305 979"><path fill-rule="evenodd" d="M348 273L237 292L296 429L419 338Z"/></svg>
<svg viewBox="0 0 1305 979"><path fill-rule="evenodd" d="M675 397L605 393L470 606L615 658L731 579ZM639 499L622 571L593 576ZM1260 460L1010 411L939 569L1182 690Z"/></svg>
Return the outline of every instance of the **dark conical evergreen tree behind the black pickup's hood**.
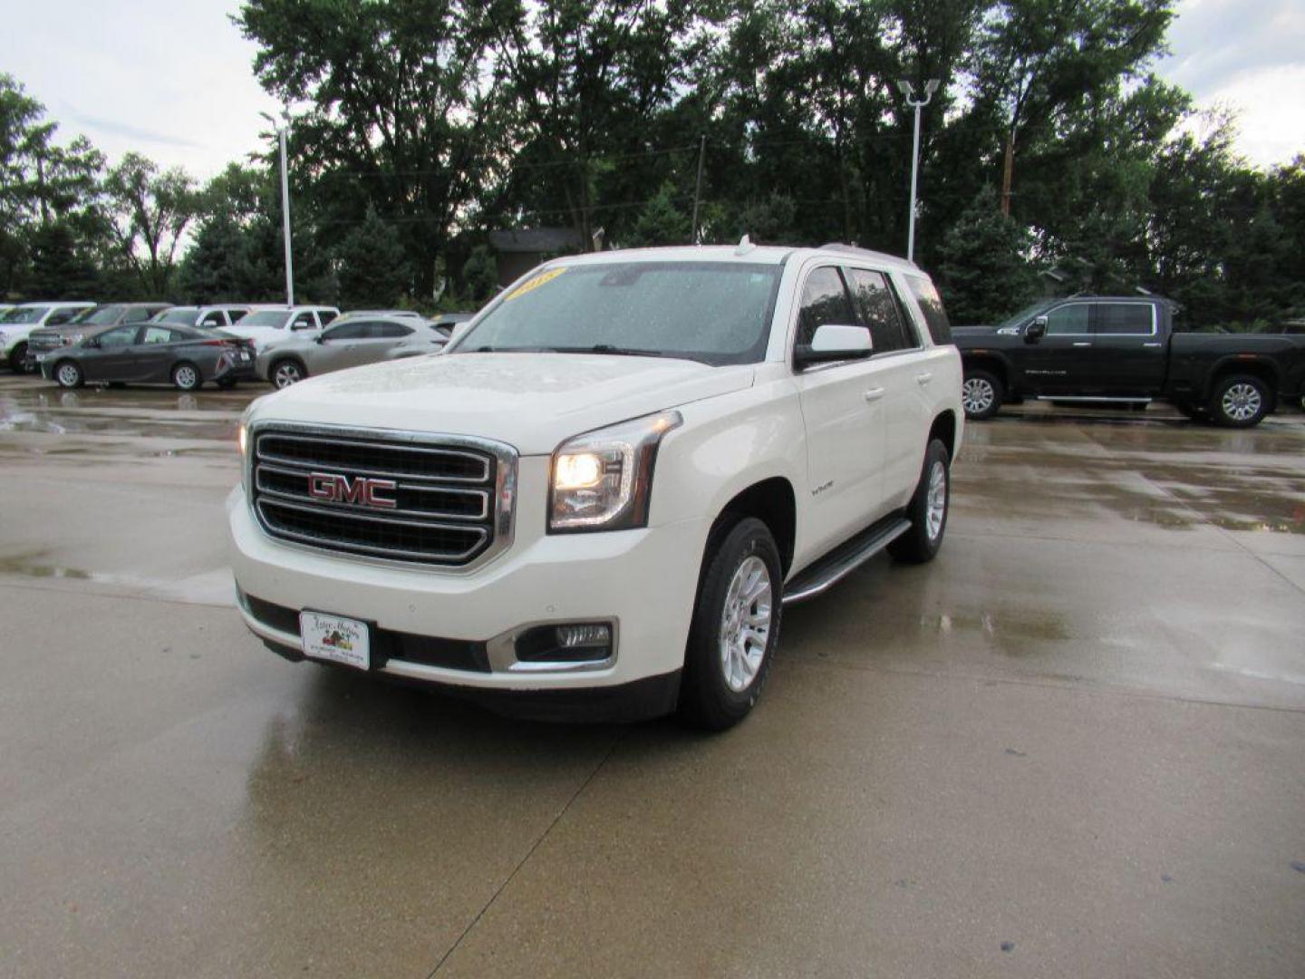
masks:
<svg viewBox="0 0 1305 979"><path fill-rule="evenodd" d="M979 192L938 249L938 274L954 322L998 322L1037 294L1027 228L997 208L997 193Z"/></svg>

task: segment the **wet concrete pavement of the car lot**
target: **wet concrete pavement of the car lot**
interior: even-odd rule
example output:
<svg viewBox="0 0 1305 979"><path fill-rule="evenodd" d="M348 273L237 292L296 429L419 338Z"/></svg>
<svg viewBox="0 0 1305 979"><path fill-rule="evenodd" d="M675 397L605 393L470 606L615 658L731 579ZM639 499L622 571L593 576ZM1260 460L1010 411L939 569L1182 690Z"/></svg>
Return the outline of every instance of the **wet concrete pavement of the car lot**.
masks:
<svg viewBox="0 0 1305 979"><path fill-rule="evenodd" d="M0 375L0 975L1301 974L1301 415L972 426L703 738L271 657L249 397Z"/></svg>

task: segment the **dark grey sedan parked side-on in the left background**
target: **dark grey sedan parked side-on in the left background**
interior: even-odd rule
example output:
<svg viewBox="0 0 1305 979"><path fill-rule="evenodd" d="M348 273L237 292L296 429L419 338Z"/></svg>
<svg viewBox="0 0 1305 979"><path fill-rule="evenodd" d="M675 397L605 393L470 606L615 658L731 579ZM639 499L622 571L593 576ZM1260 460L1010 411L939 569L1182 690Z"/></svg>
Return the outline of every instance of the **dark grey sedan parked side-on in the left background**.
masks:
<svg viewBox="0 0 1305 979"><path fill-rule="evenodd" d="M40 372L60 388L86 381L171 384L197 390L205 381L234 388L253 380L249 341L202 326L146 322L102 328L77 343L37 355Z"/></svg>

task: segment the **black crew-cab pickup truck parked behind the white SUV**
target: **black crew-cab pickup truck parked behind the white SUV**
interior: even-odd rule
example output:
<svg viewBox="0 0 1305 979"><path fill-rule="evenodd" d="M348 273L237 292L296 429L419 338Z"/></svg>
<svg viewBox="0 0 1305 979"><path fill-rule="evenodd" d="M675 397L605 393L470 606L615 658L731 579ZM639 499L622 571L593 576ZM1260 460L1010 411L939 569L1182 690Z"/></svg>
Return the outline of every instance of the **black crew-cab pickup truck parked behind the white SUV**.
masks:
<svg viewBox="0 0 1305 979"><path fill-rule="evenodd" d="M1300 399L1305 335L1184 333L1173 313L1167 299L1071 296L997 326L958 326L966 416L1022 398L1164 398L1191 419L1249 428L1279 399Z"/></svg>

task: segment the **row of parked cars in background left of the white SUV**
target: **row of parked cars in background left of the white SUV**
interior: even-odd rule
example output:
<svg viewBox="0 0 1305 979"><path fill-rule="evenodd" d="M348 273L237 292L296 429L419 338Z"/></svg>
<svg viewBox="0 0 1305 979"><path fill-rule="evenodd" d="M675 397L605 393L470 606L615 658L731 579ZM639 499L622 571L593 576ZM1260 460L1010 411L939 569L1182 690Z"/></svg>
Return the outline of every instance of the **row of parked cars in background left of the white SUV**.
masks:
<svg viewBox="0 0 1305 979"><path fill-rule="evenodd" d="M346 367L442 350L471 313L329 305L23 303L0 307L0 362L64 388L266 380L284 388Z"/></svg>

